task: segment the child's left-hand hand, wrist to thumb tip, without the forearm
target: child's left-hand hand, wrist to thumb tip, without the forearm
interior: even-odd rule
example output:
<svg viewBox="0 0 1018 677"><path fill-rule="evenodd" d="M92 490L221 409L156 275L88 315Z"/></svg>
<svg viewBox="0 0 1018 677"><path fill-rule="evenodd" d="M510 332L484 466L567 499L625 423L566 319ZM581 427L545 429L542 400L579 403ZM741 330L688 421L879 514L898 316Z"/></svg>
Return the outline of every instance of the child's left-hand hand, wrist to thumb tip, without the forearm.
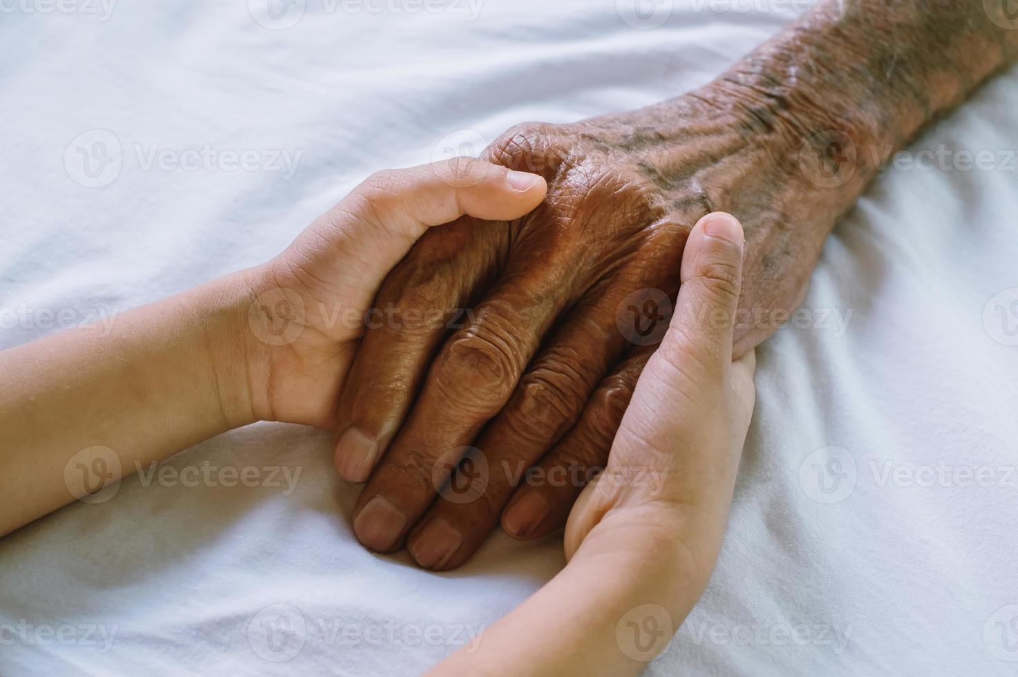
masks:
<svg viewBox="0 0 1018 677"><path fill-rule="evenodd" d="M386 274L432 226L463 215L523 216L542 201L538 175L458 158L382 171L256 269L244 342L254 419L332 430L337 393ZM445 239L446 228L435 232ZM468 232L448 233L468 237ZM479 233L484 237L484 233Z"/></svg>

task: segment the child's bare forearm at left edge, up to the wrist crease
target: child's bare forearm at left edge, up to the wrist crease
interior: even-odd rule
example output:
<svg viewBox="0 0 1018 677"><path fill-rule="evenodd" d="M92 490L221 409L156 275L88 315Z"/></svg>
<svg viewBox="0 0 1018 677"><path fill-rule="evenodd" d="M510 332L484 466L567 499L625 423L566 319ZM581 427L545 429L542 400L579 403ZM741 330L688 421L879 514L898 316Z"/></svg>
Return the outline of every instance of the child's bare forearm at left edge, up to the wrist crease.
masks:
<svg viewBox="0 0 1018 677"><path fill-rule="evenodd" d="M251 422L249 273L0 352L0 534Z"/></svg>

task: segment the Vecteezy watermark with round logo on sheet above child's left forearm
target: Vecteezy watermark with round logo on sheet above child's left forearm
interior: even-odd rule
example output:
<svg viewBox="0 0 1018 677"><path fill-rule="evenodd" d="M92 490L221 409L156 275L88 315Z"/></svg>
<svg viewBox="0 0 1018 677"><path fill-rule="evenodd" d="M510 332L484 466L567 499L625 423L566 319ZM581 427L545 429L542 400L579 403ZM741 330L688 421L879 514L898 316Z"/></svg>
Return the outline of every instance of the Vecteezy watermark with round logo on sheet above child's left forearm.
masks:
<svg viewBox="0 0 1018 677"><path fill-rule="evenodd" d="M159 144L131 144L125 154L109 129L81 132L64 149L64 169L72 181L101 188L120 176L125 161L144 172L269 172L283 180L293 177L303 151L289 149L232 149L202 144L193 148L165 148Z"/></svg>

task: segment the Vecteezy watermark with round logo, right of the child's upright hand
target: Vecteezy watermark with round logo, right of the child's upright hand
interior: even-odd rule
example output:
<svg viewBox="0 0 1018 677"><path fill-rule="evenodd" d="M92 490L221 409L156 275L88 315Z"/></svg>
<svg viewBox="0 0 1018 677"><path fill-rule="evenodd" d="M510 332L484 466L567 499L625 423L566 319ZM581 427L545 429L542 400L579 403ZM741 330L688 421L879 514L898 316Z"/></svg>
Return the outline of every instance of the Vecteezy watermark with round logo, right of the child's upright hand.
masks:
<svg viewBox="0 0 1018 677"><path fill-rule="evenodd" d="M799 486L817 503L841 503L860 484L875 489L1018 489L1018 465L958 463L937 459L912 463L896 458L865 458L844 447L822 447L799 464Z"/></svg>

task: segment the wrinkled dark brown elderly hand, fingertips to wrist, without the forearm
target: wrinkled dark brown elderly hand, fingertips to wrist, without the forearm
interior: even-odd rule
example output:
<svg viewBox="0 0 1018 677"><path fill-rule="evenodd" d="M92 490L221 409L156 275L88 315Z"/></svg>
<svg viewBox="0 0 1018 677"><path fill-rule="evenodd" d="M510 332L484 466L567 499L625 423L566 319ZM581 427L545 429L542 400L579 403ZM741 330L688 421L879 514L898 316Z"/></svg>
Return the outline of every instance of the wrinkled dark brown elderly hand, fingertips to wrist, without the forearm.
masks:
<svg viewBox="0 0 1018 677"><path fill-rule="evenodd" d="M392 550L409 533L419 564L455 567L539 460L551 474L532 483L541 499L529 502L547 505L547 514L503 523L527 539L562 526L588 468L604 465L654 349L620 328L638 322L646 330L669 309L654 297L646 304L645 293L627 297L646 289L675 297L683 243L709 212L744 223L742 307L798 304L836 210L822 200L795 210L801 201L793 198L815 187L799 167L801 142L778 126L761 129L738 100L719 106L718 96L710 104L689 96L575 124L527 123L488 149L486 159L543 174L549 194L512 223L461 221L428 233L383 286L376 305L393 321L367 333L336 430L353 425L379 440L378 455L388 447L357 508L383 495L406 520L381 535L355 522L365 545ZM791 222L800 226L794 237ZM450 333L456 314L445 311L461 307L472 312ZM400 323L411 309L441 309L442 319ZM743 322L737 354L775 329L770 318ZM466 445L483 458L471 452L436 501ZM452 555L414 547L436 518L462 534ZM456 537L440 532L443 540Z"/></svg>

